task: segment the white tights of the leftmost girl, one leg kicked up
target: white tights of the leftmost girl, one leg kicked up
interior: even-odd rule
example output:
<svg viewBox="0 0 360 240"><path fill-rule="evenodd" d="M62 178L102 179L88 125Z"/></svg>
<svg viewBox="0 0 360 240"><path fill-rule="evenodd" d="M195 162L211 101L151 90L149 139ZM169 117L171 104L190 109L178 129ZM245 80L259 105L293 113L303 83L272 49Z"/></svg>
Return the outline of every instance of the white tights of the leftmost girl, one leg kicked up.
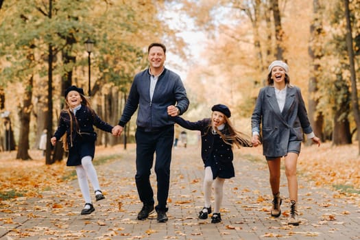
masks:
<svg viewBox="0 0 360 240"><path fill-rule="evenodd" d="M79 181L80 190L84 197L85 203L91 203L90 189L88 187L88 179L93 185L94 191L100 190L99 180L97 180L97 173L93 165L91 156L84 156L81 160L82 165L76 166L77 180Z"/></svg>

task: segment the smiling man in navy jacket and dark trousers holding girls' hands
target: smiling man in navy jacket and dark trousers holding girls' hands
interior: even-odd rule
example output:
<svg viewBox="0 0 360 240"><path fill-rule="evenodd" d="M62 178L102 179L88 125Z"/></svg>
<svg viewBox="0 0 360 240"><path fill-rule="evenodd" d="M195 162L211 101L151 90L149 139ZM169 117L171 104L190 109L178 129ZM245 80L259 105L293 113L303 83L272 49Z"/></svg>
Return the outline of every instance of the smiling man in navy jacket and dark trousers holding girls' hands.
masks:
<svg viewBox="0 0 360 240"><path fill-rule="evenodd" d="M157 179L157 200L155 207L157 221L165 222L168 217L167 197L169 195L171 150L173 145L173 121L185 112L189 99L180 76L164 67L166 47L152 43L147 49L149 69L134 77L123 114L112 130L120 136L130 118L139 106L136 119L136 188L143 208L137 219L145 220L154 211L154 192L150 184L150 171L156 154L155 173ZM176 105L176 106L175 106ZM169 117L171 116L171 117Z"/></svg>

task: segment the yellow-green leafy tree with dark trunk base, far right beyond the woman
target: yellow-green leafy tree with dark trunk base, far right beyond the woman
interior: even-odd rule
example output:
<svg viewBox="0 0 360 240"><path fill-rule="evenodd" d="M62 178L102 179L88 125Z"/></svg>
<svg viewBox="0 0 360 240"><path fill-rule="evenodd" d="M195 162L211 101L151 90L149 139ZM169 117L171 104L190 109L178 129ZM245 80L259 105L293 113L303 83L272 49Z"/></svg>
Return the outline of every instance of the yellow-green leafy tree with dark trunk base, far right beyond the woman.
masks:
<svg viewBox="0 0 360 240"><path fill-rule="evenodd" d="M344 4L334 1L328 5L326 14L330 20L327 27L324 52L326 56L322 61L324 69L322 81L319 82L320 110L327 111L324 116L324 134L326 139L331 139L335 145L352 143L351 129L356 129L355 119L351 113L351 81L348 50L346 46L346 21L344 18ZM329 124L331 123L331 124Z"/></svg>

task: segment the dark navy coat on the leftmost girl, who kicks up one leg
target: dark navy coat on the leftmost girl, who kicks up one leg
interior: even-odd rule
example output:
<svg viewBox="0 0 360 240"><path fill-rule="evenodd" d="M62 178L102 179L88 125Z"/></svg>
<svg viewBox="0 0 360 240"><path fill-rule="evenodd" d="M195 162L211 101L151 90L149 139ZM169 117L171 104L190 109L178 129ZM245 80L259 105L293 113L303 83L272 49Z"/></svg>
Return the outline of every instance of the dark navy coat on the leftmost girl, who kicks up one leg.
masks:
<svg viewBox="0 0 360 240"><path fill-rule="evenodd" d="M72 139L69 112L73 118ZM75 116L73 111L69 110L69 112L67 110L60 112L58 129L53 136L55 136L58 141L67 133L67 144L69 148L67 166L77 166L82 164L81 160L84 156L94 158L97 134L93 126L95 125L95 127L105 132L111 132L112 125L102 121L95 112L91 112L91 110L84 105L76 111Z"/></svg>

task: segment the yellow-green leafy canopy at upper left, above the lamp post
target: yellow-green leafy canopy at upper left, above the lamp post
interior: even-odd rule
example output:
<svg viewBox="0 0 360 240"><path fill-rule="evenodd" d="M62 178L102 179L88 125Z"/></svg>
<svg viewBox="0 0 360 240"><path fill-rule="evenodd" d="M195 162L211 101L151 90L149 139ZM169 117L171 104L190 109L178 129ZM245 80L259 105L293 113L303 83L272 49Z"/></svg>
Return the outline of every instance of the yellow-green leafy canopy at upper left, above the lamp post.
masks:
<svg viewBox="0 0 360 240"><path fill-rule="evenodd" d="M160 5L151 3L53 0L50 19L49 1L19 0L16 4L5 1L0 22L0 55L5 56L9 69L1 73L1 80L21 81L24 68L26 74L40 69L40 75L45 76L49 44L58 57L55 74L64 75L77 66L86 66L84 40L90 37L95 40L92 68L94 71L98 68L101 84L112 82L128 89L134 73L146 67L144 47L169 31L154 18ZM29 49L36 53L31 65L25 62ZM75 60L61 62L64 59L60 52Z"/></svg>

